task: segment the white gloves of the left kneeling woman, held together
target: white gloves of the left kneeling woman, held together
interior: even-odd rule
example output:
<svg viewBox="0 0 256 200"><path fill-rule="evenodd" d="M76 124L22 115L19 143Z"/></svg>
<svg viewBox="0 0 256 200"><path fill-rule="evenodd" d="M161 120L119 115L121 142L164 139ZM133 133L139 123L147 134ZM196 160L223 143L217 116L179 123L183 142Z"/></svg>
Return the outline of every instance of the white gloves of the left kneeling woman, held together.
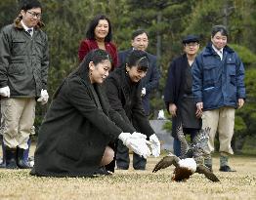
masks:
<svg viewBox="0 0 256 200"><path fill-rule="evenodd" d="M136 154L143 156L144 158L149 157L151 154L147 145L149 141L146 139L137 138L137 136L132 137L130 133L121 133L118 139L122 140L124 145L131 148Z"/></svg>

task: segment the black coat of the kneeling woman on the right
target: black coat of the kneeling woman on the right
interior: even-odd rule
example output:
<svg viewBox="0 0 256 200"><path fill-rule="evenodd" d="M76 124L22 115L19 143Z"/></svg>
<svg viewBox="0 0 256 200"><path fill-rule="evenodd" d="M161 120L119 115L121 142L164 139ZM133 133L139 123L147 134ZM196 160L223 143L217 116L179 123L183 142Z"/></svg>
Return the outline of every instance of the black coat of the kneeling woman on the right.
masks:
<svg viewBox="0 0 256 200"><path fill-rule="evenodd" d="M107 77L106 87L111 107L127 124L132 124L137 132L148 137L154 134L143 109L140 82L131 82L125 68L119 67Z"/></svg>

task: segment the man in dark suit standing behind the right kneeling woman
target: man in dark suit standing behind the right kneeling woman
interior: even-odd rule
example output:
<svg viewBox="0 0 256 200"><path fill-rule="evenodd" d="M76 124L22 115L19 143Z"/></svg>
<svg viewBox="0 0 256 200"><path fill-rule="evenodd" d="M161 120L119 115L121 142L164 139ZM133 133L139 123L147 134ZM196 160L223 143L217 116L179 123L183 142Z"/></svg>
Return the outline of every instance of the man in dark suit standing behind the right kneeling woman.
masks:
<svg viewBox="0 0 256 200"><path fill-rule="evenodd" d="M146 51L149 45L149 35L146 30L139 29L132 33L131 40L132 48L119 52L118 60L119 65L124 65L126 63L126 58L131 54L133 50ZM143 108L147 116L149 116L149 94L152 90L158 87L158 81L160 74L157 68L156 57L147 53L149 59L149 68L147 70L146 76L141 81L142 90L142 103ZM121 66L123 67L123 66ZM118 143L117 154L116 154L116 165L117 168L127 170L129 168L128 151L127 148ZM147 160L140 156L134 156L134 169L135 170L145 170ZM125 165L125 167L124 167Z"/></svg>

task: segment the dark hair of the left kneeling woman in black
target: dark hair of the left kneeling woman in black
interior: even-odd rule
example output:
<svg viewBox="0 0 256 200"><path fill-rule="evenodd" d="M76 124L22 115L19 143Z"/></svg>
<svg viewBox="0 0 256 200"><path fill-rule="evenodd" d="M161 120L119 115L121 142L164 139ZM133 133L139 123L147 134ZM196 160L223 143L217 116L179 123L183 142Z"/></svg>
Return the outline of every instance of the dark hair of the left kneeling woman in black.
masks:
<svg viewBox="0 0 256 200"><path fill-rule="evenodd" d="M105 50L96 49L96 50L90 51L86 55L86 57L84 59L84 64L86 65L86 67L88 67L90 61L92 61L95 65L97 65L98 63L102 62L103 60L109 60L110 62L112 62L111 57Z"/></svg>

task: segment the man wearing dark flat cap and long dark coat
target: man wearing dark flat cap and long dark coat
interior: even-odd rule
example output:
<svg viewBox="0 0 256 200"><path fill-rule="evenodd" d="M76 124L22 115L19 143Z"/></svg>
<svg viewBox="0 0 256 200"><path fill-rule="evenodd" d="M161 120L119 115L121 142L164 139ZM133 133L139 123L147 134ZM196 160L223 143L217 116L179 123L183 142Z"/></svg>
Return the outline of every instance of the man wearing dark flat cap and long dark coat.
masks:
<svg viewBox="0 0 256 200"><path fill-rule="evenodd" d="M174 153L185 156L178 131L193 136L201 129L200 113L197 112L192 97L192 62L199 50L199 38L188 35L182 40L184 54L173 60L168 68L164 90L164 101L167 111L172 115L172 136L174 137ZM184 137L184 135L183 135Z"/></svg>

